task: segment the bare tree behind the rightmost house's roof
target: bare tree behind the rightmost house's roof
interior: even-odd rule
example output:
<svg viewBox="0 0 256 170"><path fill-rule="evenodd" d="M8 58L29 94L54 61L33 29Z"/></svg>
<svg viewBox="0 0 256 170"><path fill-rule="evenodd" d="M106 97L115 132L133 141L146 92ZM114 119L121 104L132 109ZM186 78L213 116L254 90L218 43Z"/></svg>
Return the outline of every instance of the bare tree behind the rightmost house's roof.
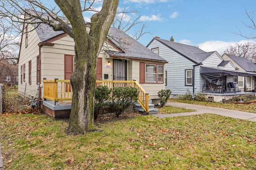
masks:
<svg viewBox="0 0 256 170"><path fill-rule="evenodd" d="M229 46L224 53L256 61L256 43L245 42Z"/></svg>

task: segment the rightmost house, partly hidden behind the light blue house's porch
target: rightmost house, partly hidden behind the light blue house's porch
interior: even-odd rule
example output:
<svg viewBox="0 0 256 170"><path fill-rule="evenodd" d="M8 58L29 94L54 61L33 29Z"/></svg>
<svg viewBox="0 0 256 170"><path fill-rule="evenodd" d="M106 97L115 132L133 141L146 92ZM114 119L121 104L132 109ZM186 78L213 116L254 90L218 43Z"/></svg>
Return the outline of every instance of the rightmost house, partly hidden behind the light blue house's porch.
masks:
<svg viewBox="0 0 256 170"><path fill-rule="evenodd" d="M249 59L226 53L222 55L222 58L225 61L232 61L232 63L234 63L236 66L236 70L256 72L256 64L251 62ZM244 91L244 88L246 88L246 91L252 91L255 89L255 77L234 76L233 82L234 84L237 84L238 88L242 91Z"/></svg>

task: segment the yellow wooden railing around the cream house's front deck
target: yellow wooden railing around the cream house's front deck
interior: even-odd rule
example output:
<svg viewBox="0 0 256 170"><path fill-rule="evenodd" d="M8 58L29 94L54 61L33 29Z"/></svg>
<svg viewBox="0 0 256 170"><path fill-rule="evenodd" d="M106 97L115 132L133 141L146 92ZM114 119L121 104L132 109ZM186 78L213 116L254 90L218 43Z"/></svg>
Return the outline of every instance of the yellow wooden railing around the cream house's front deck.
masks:
<svg viewBox="0 0 256 170"><path fill-rule="evenodd" d="M66 101L72 100L72 88L70 84L70 80L43 80L43 89L44 95L43 98L48 100L53 100L55 102L58 101ZM108 86L108 88L114 87L136 87L138 89L138 103L142 108L149 113L148 110L148 100L149 94L140 86L140 84L134 80L132 81L122 81L122 80L96 80L96 86Z"/></svg>

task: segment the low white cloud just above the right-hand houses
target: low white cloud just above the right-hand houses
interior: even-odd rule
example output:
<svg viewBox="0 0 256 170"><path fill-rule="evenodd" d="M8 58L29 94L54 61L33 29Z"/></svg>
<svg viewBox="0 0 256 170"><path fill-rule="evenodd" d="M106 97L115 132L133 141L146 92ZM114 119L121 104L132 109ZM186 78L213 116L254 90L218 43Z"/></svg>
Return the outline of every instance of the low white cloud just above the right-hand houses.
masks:
<svg viewBox="0 0 256 170"><path fill-rule="evenodd" d="M236 44L241 44L241 43L246 43L248 42L248 40L242 40L239 42L234 42L234 41L230 41L230 42L224 42L224 41L206 41L204 43L200 43L197 46L206 51L206 52L210 52L210 51L217 51L220 55L222 55L224 53L224 51L231 45L236 45ZM254 42L256 43L256 41L249 41L249 42Z"/></svg>

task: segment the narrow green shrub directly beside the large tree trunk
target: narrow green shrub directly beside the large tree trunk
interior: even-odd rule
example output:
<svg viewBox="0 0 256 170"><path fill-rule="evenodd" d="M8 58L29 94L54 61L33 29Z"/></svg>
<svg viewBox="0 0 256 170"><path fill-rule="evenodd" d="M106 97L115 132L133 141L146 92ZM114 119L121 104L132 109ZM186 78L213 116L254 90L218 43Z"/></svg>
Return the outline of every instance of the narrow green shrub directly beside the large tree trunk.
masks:
<svg viewBox="0 0 256 170"><path fill-rule="evenodd" d="M97 86L95 89L94 119L97 119L100 109L109 99L110 90L107 86Z"/></svg>

